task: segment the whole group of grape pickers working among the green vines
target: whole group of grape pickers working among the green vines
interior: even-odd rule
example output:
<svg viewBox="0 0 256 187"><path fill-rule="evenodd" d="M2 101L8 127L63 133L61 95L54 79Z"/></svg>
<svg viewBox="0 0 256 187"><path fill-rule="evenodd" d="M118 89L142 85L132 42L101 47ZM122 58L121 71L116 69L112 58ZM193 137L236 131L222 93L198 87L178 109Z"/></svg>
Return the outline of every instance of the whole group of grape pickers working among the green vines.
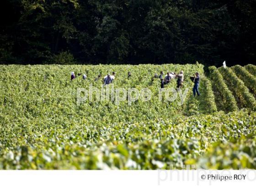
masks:
<svg viewBox="0 0 256 187"><path fill-rule="evenodd" d="M81 75L81 73L78 73L78 75ZM128 72L128 78L131 77L131 72ZM112 72L112 75L110 73L108 73L104 78L103 78L103 82L104 85L106 84L110 84L112 83L112 81L115 79L116 73ZM82 78L85 80L87 78L87 76L85 74L83 74ZM101 74L99 74L96 78L95 81L99 80L101 78ZM183 80L184 80L184 74L183 71L180 71L180 73L176 74L174 72L167 72L167 74L164 76L164 73L161 71L160 72L160 76L157 75L157 73L155 73L154 77L151 79L152 81L155 78L160 78L160 83L161 83L161 88L164 88L164 86L168 83L171 82L171 79L177 78L177 88L182 88L183 86ZM194 82L194 87L193 87L193 94L194 96L196 96L196 94L199 96L199 82L200 82L200 76L199 73L195 73L195 75L193 77L190 77L192 82ZM75 79L75 73L71 72L71 80Z"/></svg>

